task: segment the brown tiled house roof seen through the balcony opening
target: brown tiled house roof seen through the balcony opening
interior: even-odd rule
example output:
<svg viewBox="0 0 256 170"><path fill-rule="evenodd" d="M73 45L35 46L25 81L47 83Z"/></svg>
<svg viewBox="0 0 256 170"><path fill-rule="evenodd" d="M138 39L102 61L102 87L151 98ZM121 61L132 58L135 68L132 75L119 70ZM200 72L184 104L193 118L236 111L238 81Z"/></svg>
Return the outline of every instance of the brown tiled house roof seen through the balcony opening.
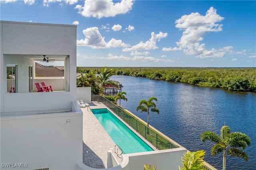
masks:
<svg viewBox="0 0 256 170"><path fill-rule="evenodd" d="M64 77L64 71L53 66L44 66L36 63L36 76L38 77Z"/></svg>

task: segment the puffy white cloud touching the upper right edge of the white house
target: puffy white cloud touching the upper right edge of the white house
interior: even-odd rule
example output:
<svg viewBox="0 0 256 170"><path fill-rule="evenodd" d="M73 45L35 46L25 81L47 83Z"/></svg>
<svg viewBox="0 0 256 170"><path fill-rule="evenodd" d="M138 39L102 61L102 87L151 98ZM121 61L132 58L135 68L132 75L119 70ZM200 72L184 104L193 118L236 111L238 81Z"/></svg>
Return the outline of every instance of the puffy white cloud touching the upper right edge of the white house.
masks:
<svg viewBox="0 0 256 170"><path fill-rule="evenodd" d="M105 42L97 27L87 28L83 30L85 39L76 40L78 46L88 46L92 48L110 48L110 47L128 47L128 44L122 40L115 40L112 38L109 42Z"/></svg>

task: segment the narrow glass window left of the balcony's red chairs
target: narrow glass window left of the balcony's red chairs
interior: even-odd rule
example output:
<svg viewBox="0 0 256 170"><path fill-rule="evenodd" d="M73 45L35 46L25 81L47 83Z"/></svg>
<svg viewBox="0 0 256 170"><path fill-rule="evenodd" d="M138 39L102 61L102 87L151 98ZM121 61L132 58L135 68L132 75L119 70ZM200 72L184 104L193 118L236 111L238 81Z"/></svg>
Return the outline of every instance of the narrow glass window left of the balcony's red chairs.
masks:
<svg viewBox="0 0 256 170"><path fill-rule="evenodd" d="M18 92L18 65L7 64L7 93Z"/></svg>

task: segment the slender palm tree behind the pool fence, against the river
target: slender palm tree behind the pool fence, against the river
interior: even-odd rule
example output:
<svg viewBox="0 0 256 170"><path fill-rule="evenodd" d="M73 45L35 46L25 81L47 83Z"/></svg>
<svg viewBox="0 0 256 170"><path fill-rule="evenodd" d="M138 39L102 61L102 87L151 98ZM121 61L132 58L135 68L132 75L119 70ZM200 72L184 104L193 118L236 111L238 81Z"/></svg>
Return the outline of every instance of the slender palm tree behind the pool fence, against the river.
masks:
<svg viewBox="0 0 256 170"><path fill-rule="evenodd" d="M148 101L145 99L142 99L139 102L138 107L136 108L136 111L140 110L140 113L146 112L148 113L148 127L149 127L149 111L157 112L159 114L159 109L156 108L156 103L154 101L157 101L156 97L150 97Z"/></svg>

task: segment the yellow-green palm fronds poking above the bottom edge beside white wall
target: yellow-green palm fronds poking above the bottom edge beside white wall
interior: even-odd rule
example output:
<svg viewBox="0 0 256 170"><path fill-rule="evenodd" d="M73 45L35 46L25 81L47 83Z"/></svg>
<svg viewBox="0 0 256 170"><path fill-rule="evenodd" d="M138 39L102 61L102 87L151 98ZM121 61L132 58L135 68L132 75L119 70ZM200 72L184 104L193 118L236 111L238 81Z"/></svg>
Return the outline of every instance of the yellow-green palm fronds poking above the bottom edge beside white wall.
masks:
<svg viewBox="0 0 256 170"><path fill-rule="evenodd" d="M183 168L179 166L179 170L204 170L204 155L204 150L184 153L181 157Z"/></svg>

